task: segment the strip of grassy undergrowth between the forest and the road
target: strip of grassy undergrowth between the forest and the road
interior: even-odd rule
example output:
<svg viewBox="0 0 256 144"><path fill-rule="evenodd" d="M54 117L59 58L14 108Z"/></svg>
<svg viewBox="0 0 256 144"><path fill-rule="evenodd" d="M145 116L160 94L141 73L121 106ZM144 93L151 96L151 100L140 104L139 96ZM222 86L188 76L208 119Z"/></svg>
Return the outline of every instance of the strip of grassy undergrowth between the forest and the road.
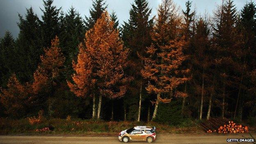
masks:
<svg viewBox="0 0 256 144"><path fill-rule="evenodd" d="M0 118L0 134L100 134L109 133L116 135L121 130L134 126L155 126L157 133L201 133L201 129L193 125L170 126L157 122L137 121L103 121L103 120L82 120L82 119L44 119L40 123L31 123L29 119L11 120ZM36 129L53 127L52 131L36 132Z"/></svg>

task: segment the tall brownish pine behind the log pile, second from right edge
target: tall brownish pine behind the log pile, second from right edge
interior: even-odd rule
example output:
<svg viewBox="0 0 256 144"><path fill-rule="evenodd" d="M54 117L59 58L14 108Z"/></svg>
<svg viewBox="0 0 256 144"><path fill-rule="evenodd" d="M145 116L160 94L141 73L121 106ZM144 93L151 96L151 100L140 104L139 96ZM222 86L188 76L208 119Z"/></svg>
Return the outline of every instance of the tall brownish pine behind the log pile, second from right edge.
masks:
<svg viewBox="0 0 256 144"><path fill-rule="evenodd" d="M232 86L231 82L234 80L232 71L235 66L235 59L237 57L236 50L238 50L237 41L238 34L235 27L237 21L236 8L233 5L232 0L226 0L222 2L222 6L219 7L215 13L215 27L213 33L213 42L217 50L216 57L218 62L219 84L222 89L222 117L225 114L225 105L227 91Z"/></svg>

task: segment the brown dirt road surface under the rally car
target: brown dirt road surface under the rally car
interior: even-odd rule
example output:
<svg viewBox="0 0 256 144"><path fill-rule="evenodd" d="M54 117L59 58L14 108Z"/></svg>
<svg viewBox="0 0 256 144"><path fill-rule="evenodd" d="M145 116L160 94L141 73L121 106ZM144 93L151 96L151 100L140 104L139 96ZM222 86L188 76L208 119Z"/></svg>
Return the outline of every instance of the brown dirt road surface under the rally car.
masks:
<svg viewBox="0 0 256 144"><path fill-rule="evenodd" d="M248 134L244 134L249 137ZM256 137L255 134L253 134ZM227 138L243 138L242 135L181 135L159 134L155 144L238 144L226 142ZM146 144L146 142L129 142ZM0 144L124 144L118 137L73 137L73 136L8 136L0 135ZM247 142L246 144L251 144Z"/></svg>

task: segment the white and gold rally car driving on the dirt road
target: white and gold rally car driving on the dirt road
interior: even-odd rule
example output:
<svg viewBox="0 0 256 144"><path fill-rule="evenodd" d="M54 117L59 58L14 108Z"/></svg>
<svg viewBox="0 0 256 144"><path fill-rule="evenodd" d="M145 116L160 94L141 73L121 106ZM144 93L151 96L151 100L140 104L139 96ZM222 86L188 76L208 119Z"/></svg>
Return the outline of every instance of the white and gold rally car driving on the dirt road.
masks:
<svg viewBox="0 0 256 144"><path fill-rule="evenodd" d="M135 126L121 131L118 138L121 142L146 141L151 143L155 141L155 127Z"/></svg>

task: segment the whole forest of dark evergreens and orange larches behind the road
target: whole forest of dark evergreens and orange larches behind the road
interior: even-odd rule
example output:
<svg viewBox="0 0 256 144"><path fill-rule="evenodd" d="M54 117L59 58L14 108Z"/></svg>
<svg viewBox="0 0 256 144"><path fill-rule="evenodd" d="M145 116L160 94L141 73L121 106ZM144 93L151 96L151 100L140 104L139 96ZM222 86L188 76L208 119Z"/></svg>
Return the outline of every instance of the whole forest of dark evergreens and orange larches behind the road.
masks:
<svg viewBox="0 0 256 144"><path fill-rule="evenodd" d="M43 0L0 38L0 117L256 121L256 3L218 0L212 15L134 0L119 24L107 0L89 15ZM25 9L25 8L24 8Z"/></svg>

